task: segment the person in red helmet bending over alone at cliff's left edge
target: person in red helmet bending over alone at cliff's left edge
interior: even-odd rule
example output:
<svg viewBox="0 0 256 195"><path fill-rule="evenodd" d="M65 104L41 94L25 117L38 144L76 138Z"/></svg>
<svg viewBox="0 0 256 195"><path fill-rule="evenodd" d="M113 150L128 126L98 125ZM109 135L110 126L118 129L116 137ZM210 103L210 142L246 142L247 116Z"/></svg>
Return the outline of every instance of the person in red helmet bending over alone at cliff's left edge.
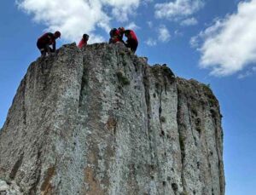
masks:
<svg viewBox="0 0 256 195"><path fill-rule="evenodd" d="M55 52L56 49L56 42L55 40L61 37L61 32L46 32L42 37L38 38L37 46L40 50L42 56L45 56L46 54L50 54L50 52ZM49 47L49 45L52 45L52 48Z"/></svg>

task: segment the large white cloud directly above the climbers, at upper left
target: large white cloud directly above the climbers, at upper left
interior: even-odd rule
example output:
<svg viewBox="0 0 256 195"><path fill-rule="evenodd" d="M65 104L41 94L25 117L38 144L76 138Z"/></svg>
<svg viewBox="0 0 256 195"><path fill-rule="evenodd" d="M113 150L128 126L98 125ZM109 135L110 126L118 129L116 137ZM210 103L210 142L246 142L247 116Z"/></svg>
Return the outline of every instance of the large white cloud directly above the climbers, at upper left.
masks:
<svg viewBox="0 0 256 195"><path fill-rule="evenodd" d="M79 40L90 34L90 43L102 42L97 28L110 30L110 21L128 20L141 0L17 0L20 9L32 14L33 20L48 27L48 31L60 30L67 40ZM110 10L108 13L106 10Z"/></svg>

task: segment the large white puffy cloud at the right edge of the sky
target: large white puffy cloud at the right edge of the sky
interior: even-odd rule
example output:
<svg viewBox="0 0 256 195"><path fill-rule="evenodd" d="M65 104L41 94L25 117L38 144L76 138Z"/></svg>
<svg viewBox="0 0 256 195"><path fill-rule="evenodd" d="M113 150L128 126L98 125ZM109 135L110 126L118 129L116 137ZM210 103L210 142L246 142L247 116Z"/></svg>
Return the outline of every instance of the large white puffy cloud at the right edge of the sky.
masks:
<svg viewBox="0 0 256 195"><path fill-rule="evenodd" d="M256 0L238 4L236 14L192 37L201 52L200 66L215 76L228 76L256 62ZM199 41L202 43L199 43Z"/></svg>

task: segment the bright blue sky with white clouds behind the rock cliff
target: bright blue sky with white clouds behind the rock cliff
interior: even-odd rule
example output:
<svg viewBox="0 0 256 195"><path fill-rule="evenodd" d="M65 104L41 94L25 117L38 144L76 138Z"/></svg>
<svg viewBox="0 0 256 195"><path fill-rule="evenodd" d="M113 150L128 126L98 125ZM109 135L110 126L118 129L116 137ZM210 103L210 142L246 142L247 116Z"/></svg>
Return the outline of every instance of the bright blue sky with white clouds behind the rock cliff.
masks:
<svg viewBox="0 0 256 195"><path fill-rule="evenodd" d="M63 3L65 2L65 3ZM0 21L0 127L37 38L60 30L63 43L108 40L111 26L137 33L137 54L178 77L210 83L224 116L226 194L256 194L256 0L3 1Z"/></svg>

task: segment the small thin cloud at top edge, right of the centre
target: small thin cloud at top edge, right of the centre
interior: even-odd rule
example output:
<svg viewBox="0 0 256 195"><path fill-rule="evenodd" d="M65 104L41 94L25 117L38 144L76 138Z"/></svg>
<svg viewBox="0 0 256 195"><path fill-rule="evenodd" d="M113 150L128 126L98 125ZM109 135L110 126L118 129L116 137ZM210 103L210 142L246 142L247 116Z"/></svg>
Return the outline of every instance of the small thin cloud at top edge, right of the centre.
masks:
<svg viewBox="0 0 256 195"><path fill-rule="evenodd" d="M169 3L156 3L154 14L160 19L181 20L191 14L195 14L203 6L203 0L175 0Z"/></svg>

